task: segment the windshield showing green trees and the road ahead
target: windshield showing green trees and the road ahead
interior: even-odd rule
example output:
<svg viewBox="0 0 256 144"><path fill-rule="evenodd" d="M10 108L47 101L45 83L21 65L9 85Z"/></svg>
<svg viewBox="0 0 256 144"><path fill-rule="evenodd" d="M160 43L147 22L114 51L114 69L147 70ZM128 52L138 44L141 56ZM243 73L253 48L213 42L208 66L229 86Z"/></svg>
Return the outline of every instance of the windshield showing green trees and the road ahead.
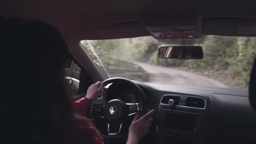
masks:
<svg viewBox="0 0 256 144"><path fill-rule="evenodd" d="M256 55L256 38L204 36L200 39L136 37L82 40L105 77L126 77L147 83L200 87L247 88ZM158 58L163 45L201 45L204 58Z"/></svg>

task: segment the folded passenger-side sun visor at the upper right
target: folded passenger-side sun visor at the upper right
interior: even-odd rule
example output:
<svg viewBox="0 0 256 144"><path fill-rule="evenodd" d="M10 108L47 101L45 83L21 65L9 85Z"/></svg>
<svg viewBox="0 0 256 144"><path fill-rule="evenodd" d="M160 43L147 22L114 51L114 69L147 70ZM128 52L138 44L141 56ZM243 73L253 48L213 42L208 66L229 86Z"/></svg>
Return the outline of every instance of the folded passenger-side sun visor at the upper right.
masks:
<svg viewBox="0 0 256 144"><path fill-rule="evenodd" d="M211 18L202 22L204 35L256 37L256 19Z"/></svg>

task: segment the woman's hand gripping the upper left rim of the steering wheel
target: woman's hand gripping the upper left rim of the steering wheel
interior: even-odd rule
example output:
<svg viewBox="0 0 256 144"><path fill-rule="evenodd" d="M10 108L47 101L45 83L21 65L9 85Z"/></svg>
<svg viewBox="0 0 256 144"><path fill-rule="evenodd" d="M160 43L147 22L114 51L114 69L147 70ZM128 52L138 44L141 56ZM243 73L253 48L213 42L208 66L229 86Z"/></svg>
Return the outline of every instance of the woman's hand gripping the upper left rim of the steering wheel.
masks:
<svg viewBox="0 0 256 144"><path fill-rule="evenodd" d="M101 82L96 82L94 84L92 84L86 93L86 98L90 99L91 101L94 101L95 99L99 98L102 89L104 88L105 84L101 83Z"/></svg>

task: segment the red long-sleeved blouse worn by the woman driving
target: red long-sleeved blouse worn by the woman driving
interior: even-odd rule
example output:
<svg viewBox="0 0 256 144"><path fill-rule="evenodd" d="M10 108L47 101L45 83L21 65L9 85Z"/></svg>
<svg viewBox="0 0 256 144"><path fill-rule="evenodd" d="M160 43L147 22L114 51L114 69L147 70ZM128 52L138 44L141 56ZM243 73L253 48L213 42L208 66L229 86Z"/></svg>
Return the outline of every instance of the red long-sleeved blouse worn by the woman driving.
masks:
<svg viewBox="0 0 256 144"><path fill-rule="evenodd" d="M85 110L91 104L91 100L87 98L82 98L74 103L75 113L78 115L83 115ZM75 143L76 144L103 144L99 139L99 134L93 128L93 126L88 126L88 123L83 118L75 119Z"/></svg>

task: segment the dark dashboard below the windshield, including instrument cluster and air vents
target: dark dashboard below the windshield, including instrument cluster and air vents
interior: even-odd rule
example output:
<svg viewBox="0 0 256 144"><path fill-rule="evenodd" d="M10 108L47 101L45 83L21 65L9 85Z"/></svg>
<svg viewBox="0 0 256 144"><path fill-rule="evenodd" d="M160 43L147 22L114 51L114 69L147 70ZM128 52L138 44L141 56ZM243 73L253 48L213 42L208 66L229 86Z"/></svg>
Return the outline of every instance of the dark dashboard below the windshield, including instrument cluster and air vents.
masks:
<svg viewBox="0 0 256 144"><path fill-rule="evenodd" d="M256 144L256 111L247 90L134 82L146 95L147 109L156 110L143 143ZM117 89L107 101L138 102L132 88Z"/></svg>

